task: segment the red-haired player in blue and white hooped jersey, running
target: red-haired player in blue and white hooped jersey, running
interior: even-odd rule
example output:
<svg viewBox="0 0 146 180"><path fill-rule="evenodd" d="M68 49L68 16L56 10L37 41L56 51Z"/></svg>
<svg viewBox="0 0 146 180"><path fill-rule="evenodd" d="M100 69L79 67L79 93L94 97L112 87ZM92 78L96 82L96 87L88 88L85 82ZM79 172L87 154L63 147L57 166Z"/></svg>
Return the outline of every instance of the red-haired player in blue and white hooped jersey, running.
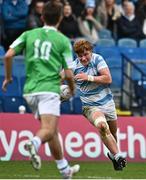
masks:
<svg viewBox="0 0 146 180"><path fill-rule="evenodd" d="M112 82L109 68L102 56L92 52L86 40L74 44L77 58L73 62L74 77L82 101L83 115L99 131L102 142L108 148L108 157L115 170L123 170L126 159L117 146L117 115L109 84Z"/></svg>

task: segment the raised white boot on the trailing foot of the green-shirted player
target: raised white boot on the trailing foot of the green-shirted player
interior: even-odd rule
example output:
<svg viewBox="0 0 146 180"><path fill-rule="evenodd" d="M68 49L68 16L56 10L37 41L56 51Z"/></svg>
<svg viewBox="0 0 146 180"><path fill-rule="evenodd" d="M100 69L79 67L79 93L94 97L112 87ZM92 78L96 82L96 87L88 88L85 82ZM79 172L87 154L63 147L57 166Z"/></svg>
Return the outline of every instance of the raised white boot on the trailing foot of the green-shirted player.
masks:
<svg viewBox="0 0 146 180"><path fill-rule="evenodd" d="M29 156L30 156L30 160L31 160L31 164L33 166L33 168L35 170L39 170L41 169L41 158L40 156L37 154L37 151L34 147L34 144L32 141L28 141L25 144L25 148L26 150L28 150L29 152Z"/></svg>

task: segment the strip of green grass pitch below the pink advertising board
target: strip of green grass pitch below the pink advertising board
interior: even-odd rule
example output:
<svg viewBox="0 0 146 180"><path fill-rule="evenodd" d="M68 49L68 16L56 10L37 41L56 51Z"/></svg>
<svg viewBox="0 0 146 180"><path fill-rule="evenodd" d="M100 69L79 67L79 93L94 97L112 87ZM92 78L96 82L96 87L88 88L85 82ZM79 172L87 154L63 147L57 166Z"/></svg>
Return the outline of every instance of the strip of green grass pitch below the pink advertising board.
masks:
<svg viewBox="0 0 146 180"><path fill-rule="evenodd" d="M114 171L111 162L71 162L81 169L73 179L146 179L146 163L128 163L123 171ZM29 161L1 161L0 179L61 179L54 162L42 162L35 171Z"/></svg>

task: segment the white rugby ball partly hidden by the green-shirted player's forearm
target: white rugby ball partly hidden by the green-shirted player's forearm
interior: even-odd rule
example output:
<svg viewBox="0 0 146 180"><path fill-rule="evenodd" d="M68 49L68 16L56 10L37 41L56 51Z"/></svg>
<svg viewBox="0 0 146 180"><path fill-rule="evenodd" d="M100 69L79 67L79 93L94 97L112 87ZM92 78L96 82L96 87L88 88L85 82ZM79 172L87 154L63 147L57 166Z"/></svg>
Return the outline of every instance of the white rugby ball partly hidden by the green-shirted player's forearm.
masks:
<svg viewBox="0 0 146 180"><path fill-rule="evenodd" d="M66 84L61 85L61 101L67 101L71 97L69 86Z"/></svg>

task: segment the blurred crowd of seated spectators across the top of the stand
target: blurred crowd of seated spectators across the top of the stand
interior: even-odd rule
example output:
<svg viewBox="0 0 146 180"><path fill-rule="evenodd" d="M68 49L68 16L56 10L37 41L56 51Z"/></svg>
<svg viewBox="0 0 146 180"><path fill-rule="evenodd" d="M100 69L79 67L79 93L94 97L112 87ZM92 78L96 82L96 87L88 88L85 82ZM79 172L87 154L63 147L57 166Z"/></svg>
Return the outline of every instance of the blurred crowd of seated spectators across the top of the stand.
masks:
<svg viewBox="0 0 146 180"><path fill-rule="evenodd" d="M43 26L41 13L47 1L0 0L0 44L5 50L25 30ZM58 29L72 41L83 37L95 44L105 29L115 41L132 38L139 43L146 38L146 0L56 1L64 7Z"/></svg>

